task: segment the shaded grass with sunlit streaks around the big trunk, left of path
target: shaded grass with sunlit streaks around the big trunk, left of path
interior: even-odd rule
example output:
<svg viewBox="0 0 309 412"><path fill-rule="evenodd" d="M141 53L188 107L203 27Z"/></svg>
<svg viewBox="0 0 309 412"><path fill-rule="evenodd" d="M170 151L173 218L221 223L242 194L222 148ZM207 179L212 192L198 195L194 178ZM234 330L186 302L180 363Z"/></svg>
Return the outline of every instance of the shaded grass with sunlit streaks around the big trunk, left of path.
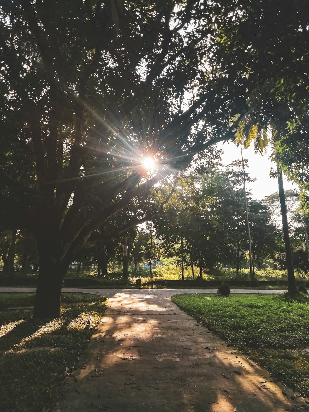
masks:
<svg viewBox="0 0 309 412"><path fill-rule="evenodd" d="M105 310L105 298L64 293L61 316L32 319L34 293L0 294L0 409L51 406ZM89 322L88 322L89 321Z"/></svg>

